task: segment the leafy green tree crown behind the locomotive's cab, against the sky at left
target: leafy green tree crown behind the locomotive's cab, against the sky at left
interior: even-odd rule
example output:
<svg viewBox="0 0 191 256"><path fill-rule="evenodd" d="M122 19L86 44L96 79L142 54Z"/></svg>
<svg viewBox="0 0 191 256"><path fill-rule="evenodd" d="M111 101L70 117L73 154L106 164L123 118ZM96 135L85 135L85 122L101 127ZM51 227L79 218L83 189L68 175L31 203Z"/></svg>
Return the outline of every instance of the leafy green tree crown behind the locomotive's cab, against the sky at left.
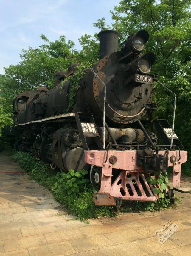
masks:
<svg viewBox="0 0 191 256"><path fill-rule="evenodd" d="M36 90L37 86L52 88L55 73L67 69L75 62L75 55L72 52L74 42L69 40L66 43L64 36L55 42L50 42L43 34L41 38L47 44L35 49L22 49L20 63L4 68L7 77L28 90Z"/></svg>

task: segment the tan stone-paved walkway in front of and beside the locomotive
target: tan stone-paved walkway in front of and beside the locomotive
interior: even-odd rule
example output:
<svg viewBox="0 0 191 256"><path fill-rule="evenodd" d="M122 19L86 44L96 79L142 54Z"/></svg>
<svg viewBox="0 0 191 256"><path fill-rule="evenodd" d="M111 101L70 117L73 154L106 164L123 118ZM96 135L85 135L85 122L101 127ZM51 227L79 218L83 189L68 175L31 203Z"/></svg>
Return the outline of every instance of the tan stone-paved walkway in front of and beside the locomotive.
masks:
<svg viewBox="0 0 191 256"><path fill-rule="evenodd" d="M161 212L123 213L84 224L72 219L28 174L0 153L0 256L190 255L191 194ZM12 173L3 173L12 172ZM167 220L178 230L160 244L155 232Z"/></svg>

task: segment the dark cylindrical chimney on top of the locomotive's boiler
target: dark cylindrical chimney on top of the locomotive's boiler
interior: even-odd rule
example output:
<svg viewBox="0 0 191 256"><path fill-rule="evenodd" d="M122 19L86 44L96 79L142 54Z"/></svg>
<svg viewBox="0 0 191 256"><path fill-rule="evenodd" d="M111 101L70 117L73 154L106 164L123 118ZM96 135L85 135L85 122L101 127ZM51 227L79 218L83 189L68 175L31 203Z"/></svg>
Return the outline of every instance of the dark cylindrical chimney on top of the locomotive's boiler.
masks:
<svg viewBox="0 0 191 256"><path fill-rule="evenodd" d="M100 58L105 55L116 52L118 49L119 33L114 30L103 30L98 34L100 39Z"/></svg>

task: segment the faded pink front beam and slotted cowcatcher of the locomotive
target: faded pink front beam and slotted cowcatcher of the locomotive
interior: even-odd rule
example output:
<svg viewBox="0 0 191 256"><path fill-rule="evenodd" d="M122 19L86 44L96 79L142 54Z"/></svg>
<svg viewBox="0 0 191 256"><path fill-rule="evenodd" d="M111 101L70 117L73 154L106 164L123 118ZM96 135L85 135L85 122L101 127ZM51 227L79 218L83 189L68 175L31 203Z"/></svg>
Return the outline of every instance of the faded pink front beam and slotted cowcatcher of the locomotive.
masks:
<svg viewBox="0 0 191 256"><path fill-rule="evenodd" d="M180 152L181 160L176 161L176 163L171 163L170 157L172 155L176 156L176 159L179 159L179 151L169 151L168 166L174 166L173 187L180 187L181 163L184 163L187 160L187 152ZM166 151L159 151L159 154L166 155ZM153 193L153 189L155 187L158 187L159 190L161 190L159 185L148 184L145 179L144 170L136 165L136 150L109 150L107 158L108 160L106 163L106 151L85 150L84 155L86 163L94 166L100 166L102 168L101 186L98 194L109 194L123 200L138 201L155 201L159 198L159 195ZM109 157L113 155L117 157L117 162L111 164L109 162ZM113 176L112 168L119 169L119 175L113 184L111 183ZM142 183L139 181L140 177L147 191L145 188L143 188ZM139 194L137 193L137 189L139 190Z"/></svg>

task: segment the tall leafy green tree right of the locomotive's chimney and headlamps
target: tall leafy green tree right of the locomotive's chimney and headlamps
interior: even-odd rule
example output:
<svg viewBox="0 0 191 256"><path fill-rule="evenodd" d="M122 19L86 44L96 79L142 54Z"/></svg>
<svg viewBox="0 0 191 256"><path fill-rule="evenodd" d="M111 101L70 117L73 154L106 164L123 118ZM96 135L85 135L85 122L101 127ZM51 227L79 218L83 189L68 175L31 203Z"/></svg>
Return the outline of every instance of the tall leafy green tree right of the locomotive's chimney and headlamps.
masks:
<svg viewBox="0 0 191 256"><path fill-rule="evenodd" d="M140 29L149 32L145 52L156 54L152 72L177 95L175 131L190 154L190 0L123 0L111 11L123 41ZM172 123L173 96L155 84L155 118ZM189 162L189 160L188 160Z"/></svg>

